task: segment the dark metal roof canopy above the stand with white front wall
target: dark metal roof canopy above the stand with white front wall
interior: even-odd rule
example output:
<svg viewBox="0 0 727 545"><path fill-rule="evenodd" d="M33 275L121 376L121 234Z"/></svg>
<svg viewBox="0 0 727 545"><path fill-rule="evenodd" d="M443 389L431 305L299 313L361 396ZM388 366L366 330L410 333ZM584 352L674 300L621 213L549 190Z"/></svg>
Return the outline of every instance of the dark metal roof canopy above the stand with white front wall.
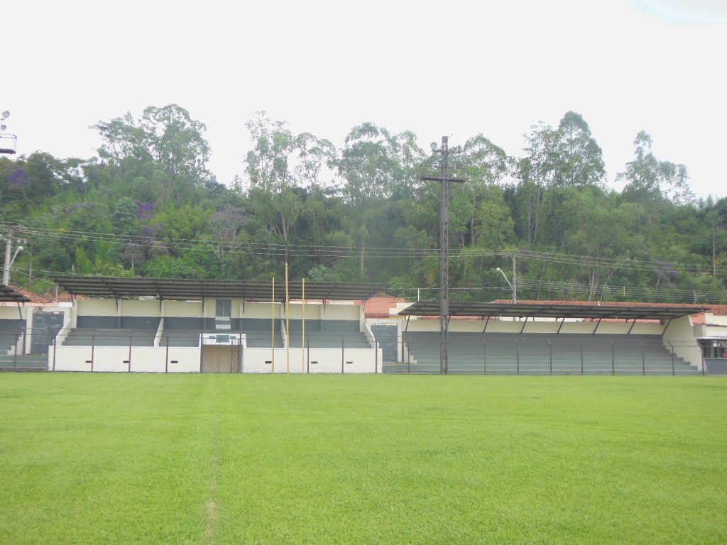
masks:
<svg viewBox="0 0 727 545"><path fill-rule="evenodd" d="M60 288L72 295L113 297L153 296L157 299L244 299L270 302L273 282L260 280L190 280L185 278L116 278L111 276L55 275ZM381 284L306 282L305 299L358 301L382 291ZM302 282L289 282L290 299L302 299ZM276 280L275 301L284 302L285 281Z"/></svg>

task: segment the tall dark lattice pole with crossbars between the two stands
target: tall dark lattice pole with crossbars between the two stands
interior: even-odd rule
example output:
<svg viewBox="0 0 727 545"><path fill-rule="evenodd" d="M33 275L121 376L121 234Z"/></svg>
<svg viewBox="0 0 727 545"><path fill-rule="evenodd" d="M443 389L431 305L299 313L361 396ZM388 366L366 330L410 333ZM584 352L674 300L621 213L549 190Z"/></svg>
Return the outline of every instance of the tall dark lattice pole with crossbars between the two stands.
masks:
<svg viewBox="0 0 727 545"><path fill-rule="evenodd" d="M462 153L462 146L449 150L449 137L442 137L441 148L437 143L430 145L433 155L441 156L438 166L441 169L440 176L422 176L422 180L441 182L442 197L439 222L439 372L449 374L449 184L450 182L464 183L464 178L450 177L449 175L449 154Z"/></svg>

